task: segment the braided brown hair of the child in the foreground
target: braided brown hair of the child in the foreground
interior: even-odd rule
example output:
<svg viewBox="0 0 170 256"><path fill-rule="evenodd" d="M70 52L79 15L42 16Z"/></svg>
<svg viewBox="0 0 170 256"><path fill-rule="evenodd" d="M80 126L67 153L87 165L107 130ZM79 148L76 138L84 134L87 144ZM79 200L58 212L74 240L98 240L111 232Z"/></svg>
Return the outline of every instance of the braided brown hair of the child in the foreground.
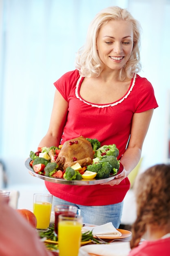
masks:
<svg viewBox="0 0 170 256"><path fill-rule="evenodd" d="M139 245L148 224L161 229L170 222L170 164L157 164L141 173L135 196L137 218L132 225L131 249Z"/></svg>

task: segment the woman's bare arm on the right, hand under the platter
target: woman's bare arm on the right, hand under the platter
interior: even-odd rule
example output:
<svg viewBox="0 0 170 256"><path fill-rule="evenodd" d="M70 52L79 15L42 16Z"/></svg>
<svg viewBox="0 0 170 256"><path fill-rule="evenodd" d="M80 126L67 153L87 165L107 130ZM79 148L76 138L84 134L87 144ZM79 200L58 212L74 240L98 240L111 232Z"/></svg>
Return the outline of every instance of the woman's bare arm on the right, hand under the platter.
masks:
<svg viewBox="0 0 170 256"><path fill-rule="evenodd" d="M124 166L124 172L118 175L114 180L104 184L111 186L119 184L129 173L137 166L141 158L141 150L144 139L148 132L153 109L141 113L135 113L132 118L132 128L128 147L121 157L120 162Z"/></svg>

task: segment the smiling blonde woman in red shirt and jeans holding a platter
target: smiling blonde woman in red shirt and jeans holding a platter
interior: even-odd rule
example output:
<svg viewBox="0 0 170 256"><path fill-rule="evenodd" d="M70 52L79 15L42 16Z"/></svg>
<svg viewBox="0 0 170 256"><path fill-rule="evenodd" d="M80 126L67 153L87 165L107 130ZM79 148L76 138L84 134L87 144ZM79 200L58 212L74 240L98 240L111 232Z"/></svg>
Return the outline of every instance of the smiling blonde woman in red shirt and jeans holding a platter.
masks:
<svg viewBox="0 0 170 256"><path fill-rule="evenodd" d="M86 43L77 53L76 69L54 83L49 129L38 146L58 146L80 135L96 138L101 146L116 144L124 166L121 175L104 184L45 182L53 204L77 205L86 223L112 222L119 227L130 187L127 176L139 162L158 107L151 83L137 74L139 46L139 22L126 9L108 7L91 22Z"/></svg>

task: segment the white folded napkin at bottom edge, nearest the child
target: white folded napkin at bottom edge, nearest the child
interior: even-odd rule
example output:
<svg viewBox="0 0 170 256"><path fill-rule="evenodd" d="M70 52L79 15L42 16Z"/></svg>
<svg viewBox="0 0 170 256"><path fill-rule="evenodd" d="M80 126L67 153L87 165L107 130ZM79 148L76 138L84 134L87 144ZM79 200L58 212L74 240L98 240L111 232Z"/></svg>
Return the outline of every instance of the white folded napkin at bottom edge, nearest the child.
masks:
<svg viewBox="0 0 170 256"><path fill-rule="evenodd" d="M127 256L129 252L129 242L113 242L110 244L84 245L79 249L79 256L86 256L85 253L98 256Z"/></svg>

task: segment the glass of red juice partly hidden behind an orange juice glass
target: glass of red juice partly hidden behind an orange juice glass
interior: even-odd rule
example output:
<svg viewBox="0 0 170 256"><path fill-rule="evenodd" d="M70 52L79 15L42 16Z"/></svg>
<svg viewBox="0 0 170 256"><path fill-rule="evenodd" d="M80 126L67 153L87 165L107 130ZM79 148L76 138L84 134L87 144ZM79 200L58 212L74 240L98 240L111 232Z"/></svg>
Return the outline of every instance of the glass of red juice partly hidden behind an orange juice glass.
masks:
<svg viewBox="0 0 170 256"><path fill-rule="evenodd" d="M55 211L55 225L54 225L54 231L55 236L58 235L58 216L60 214L69 214L72 217L74 217L77 214L78 207L74 205L67 205L67 204L58 204L55 205L54 211Z"/></svg>

